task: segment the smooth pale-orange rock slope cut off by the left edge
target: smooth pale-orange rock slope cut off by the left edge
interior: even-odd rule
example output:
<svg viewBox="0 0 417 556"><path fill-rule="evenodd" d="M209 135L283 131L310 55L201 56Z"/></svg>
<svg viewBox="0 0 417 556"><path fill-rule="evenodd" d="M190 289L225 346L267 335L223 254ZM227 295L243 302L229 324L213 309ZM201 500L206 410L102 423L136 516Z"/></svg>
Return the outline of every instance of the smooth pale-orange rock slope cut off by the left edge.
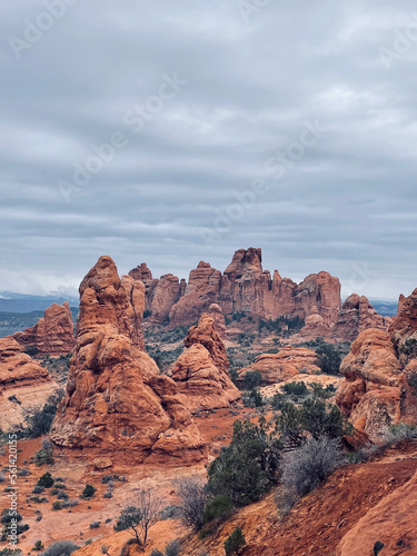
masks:
<svg viewBox="0 0 417 556"><path fill-rule="evenodd" d="M59 388L46 368L22 353L11 337L0 338L0 429L23 423L24 409L44 405Z"/></svg>

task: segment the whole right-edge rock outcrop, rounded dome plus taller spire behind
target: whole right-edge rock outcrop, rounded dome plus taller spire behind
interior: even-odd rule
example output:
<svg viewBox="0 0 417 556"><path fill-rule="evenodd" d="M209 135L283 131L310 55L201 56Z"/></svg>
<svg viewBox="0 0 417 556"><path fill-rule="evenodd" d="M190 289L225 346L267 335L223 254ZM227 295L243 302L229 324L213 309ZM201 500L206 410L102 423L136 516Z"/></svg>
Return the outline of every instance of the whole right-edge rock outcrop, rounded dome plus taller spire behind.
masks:
<svg viewBox="0 0 417 556"><path fill-rule="evenodd" d="M404 349L410 345L407 340L414 338L417 338L417 290L400 300L389 332L379 329L360 332L340 366L345 380L336 401L355 427L374 441L390 425L417 423L417 390L413 381L417 377L417 350Z"/></svg>

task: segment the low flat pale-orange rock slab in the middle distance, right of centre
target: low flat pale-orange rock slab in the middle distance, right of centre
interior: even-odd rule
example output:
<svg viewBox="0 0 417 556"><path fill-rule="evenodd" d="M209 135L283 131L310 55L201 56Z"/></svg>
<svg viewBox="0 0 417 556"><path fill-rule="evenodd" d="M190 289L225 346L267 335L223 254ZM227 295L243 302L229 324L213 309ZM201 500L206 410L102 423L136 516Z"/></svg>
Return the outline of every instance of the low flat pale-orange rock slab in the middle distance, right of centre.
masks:
<svg viewBox="0 0 417 556"><path fill-rule="evenodd" d="M239 376L259 370L262 384L281 383L296 377L299 373L314 374L319 371L316 365L317 354L308 348L285 346L278 354L262 354L248 367L239 370Z"/></svg>

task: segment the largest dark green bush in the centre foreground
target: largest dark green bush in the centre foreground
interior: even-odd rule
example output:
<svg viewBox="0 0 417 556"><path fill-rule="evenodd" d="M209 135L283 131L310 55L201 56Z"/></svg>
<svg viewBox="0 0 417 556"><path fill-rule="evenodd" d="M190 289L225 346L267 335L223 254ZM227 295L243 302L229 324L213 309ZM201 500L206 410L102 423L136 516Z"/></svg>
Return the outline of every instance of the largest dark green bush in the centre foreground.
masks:
<svg viewBox="0 0 417 556"><path fill-rule="evenodd" d="M277 480L281 444L269 433L265 418L259 425L236 421L228 447L208 469L208 488L212 495L226 495L234 504L256 502Z"/></svg>

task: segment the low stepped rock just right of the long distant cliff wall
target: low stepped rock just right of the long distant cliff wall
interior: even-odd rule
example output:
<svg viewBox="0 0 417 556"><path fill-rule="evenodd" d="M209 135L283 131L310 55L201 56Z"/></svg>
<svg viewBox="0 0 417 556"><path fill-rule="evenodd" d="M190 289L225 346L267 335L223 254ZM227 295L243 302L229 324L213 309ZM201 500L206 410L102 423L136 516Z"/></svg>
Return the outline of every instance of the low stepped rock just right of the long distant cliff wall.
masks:
<svg viewBox="0 0 417 556"><path fill-rule="evenodd" d="M354 340L367 328L388 330L390 320L378 315L367 297L353 294L341 307L332 336L344 340Z"/></svg>

